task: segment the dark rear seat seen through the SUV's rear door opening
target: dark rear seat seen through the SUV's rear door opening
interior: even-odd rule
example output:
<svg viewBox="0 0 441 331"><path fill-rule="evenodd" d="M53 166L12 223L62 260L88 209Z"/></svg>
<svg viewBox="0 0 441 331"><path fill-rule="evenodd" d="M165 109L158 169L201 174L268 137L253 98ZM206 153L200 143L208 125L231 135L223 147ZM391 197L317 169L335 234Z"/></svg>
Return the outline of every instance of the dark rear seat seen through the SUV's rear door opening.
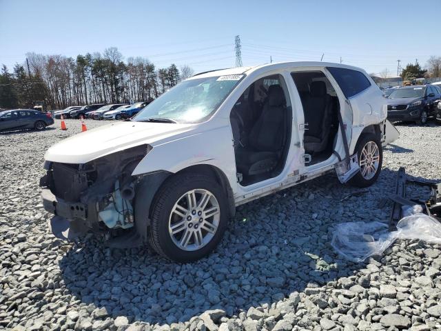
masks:
<svg viewBox="0 0 441 331"><path fill-rule="evenodd" d="M303 110L307 131L303 137L305 151L322 152L327 148L331 132L331 96L327 94L324 81L313 81L309 86L309 96L304 99Z"/></svg>

